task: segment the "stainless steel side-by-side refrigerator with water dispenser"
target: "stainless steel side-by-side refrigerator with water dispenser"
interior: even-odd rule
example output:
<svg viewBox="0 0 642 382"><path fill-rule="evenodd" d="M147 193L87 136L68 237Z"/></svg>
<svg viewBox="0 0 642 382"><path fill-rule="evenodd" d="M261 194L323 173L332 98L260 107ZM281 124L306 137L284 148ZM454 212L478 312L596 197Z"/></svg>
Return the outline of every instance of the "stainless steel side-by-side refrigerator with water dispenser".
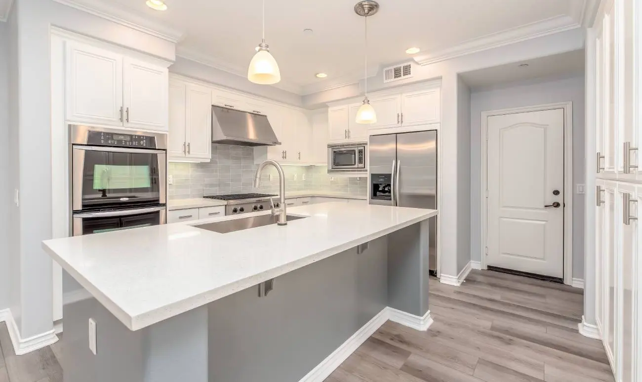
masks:
<svg viewBox="0 0 642 382"><path fill-rule="evenodd" d="M370 204L437 209L437 131L370 136ZM430 272L437 272L437 217L430 218Z"/></svg>

